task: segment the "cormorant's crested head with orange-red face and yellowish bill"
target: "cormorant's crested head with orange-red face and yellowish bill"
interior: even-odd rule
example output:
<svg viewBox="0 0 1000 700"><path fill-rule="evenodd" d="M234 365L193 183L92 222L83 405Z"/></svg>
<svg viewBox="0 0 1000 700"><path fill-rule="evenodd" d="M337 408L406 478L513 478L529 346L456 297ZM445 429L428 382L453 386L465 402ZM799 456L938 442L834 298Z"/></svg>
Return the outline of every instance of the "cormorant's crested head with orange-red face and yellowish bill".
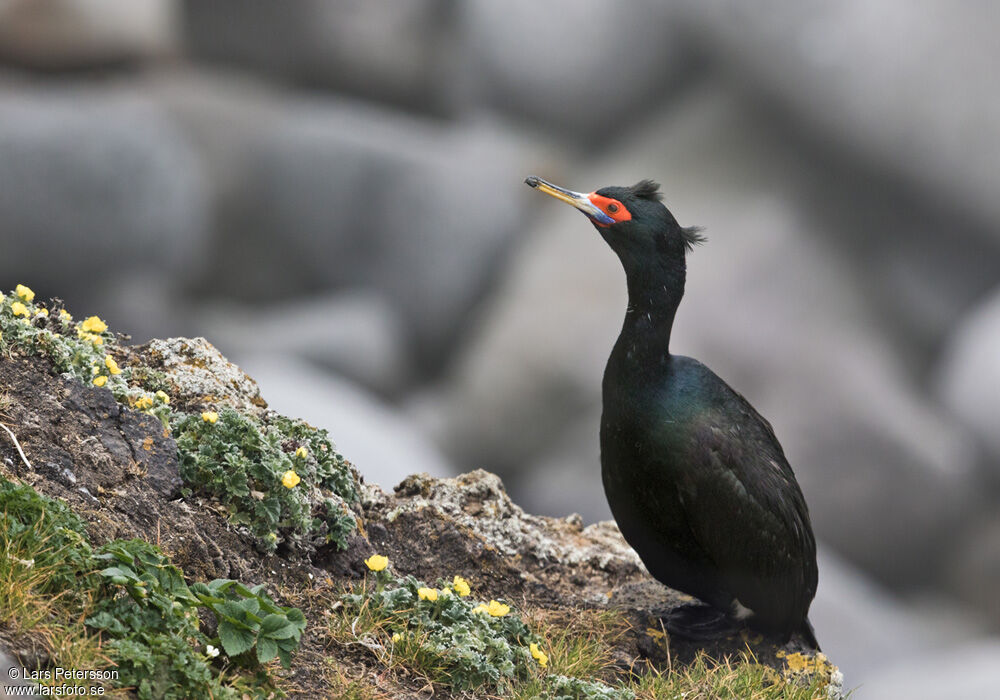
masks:
<svg viewBox="0 0 1000 700"><path fill-rule="evenodd" d="M652 180L590 193L563 189L534 176L524 182L582 211L618 254L626 272L654 262L683 266L685 253L704 240L698 228L677 223L660 201L660 186Z"/></svg>

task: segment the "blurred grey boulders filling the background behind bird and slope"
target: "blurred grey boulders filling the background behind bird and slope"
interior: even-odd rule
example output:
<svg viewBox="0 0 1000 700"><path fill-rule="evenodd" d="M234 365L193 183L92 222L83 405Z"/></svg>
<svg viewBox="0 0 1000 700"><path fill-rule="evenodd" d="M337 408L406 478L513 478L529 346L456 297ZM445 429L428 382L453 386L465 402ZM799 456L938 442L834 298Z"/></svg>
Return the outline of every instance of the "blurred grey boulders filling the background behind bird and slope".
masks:
<svg viewBox="0 0 1000 700"><path fill-rule="evenodd" d="M590 522L624 279L522 181L655 178L709 237L675 350L774 424L854 697L991 697L998 30L987 2L0 0L0 287L205 335L370 481L483 467Z"/></svg>

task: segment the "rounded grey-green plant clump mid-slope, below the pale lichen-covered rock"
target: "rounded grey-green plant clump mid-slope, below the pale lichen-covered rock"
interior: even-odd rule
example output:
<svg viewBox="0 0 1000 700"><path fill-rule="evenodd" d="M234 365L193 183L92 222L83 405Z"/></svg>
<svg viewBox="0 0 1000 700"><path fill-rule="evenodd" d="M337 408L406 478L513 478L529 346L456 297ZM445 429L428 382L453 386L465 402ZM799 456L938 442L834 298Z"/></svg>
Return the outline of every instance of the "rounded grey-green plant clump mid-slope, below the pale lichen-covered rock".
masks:
<svg viewBox="0 0 1000 700"><path fill-rule="evenodd" d="M261 424L224 408L173 426L187 493L218 499L273 551L279 538L346 546L354 479L325 431L283 416Z"/></svg>

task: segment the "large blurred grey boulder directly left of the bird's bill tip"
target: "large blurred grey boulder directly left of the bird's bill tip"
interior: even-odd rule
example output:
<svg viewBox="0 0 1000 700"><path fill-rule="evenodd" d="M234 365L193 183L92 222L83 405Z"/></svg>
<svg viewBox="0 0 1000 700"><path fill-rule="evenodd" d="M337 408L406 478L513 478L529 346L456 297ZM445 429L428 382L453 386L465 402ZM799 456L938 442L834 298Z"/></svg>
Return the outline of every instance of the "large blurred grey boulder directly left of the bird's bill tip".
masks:
<svg viewBox="0 0 1000 700"><path fill-rule="evenodd" d="M511 184L530 144L484 122L279 100L217 77L165 80L156 94L203 146L217 197L199 294L372 292L404 321L423 366L445 362L522 225L530 193Z"/></svg>

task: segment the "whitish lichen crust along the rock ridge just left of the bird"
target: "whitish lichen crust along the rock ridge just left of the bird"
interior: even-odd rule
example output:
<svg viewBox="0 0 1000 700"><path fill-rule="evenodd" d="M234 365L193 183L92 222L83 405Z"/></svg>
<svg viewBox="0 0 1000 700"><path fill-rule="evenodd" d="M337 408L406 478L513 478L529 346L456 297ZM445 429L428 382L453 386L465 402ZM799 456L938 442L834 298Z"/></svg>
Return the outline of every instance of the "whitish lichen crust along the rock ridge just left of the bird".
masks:
<svg viewBox="0 0 1000 700"><path fill-rule="evenodd" d="M385 509L385 519L392 521L403 513L431 508L505 556L529 555L539 561L601 570L637 571L642 566L613 522L585 528L578 515L549 518L525 513L510 500L500 478L481 469L450 479L415 474L395 491L391 496L377 486L367 487L366 510Z"/></svg>

